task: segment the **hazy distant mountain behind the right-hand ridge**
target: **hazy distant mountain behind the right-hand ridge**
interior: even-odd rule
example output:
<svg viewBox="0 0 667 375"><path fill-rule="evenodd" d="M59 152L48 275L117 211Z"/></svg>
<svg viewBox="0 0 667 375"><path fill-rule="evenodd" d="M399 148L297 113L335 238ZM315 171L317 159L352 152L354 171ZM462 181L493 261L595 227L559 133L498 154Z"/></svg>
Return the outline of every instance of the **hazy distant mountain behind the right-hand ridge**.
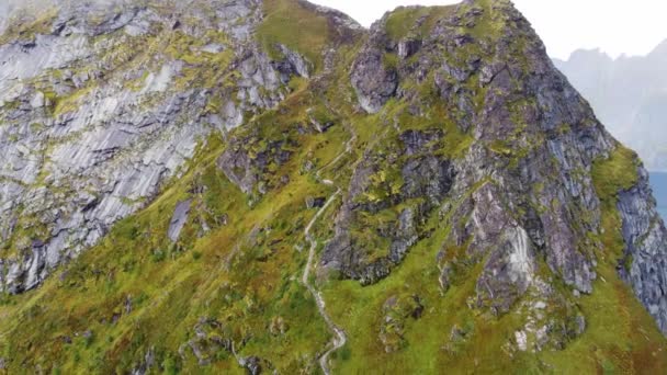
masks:
<svg viewBox="0 0 667 375"><path fill-rule="evenodd" d="M554 60L596 114L651 170L667 170L667 41L645 57L577 50Z"/></svg>

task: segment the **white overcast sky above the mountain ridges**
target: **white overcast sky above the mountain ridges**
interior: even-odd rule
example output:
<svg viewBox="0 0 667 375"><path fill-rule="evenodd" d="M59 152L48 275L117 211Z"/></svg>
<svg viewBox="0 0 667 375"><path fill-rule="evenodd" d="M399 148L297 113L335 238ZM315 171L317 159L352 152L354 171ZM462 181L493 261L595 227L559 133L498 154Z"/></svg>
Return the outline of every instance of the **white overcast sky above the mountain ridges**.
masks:
<svg viewBox="0 0 667 375"><path fill-rule="evenodd" d="M2 1L2 0L0 0ZM364 26L398 5L444 5L455 0L310 0L338 9ZM667 38L667 0L515 0L552 57L600 48L612 57L646 55Z"/></svg>

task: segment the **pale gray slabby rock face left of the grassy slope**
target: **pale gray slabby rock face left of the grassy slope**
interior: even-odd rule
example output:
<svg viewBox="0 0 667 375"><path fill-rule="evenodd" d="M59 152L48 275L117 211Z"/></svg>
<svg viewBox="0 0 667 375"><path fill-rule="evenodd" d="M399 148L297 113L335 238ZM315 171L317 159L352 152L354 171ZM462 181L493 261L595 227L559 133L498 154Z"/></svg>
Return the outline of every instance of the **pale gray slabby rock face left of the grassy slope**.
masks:
<svg viewBox="0 0 667 375"><path fill-rule="evenodd" d="M146 206L210 134L275 106L291 77L312 69L287 47L284 61L259 49L260 1L216 1L214 14L170 4L188 22L160 1L118 13L58 2L48 33L0 45L0 292L37 286Z"/></svg>

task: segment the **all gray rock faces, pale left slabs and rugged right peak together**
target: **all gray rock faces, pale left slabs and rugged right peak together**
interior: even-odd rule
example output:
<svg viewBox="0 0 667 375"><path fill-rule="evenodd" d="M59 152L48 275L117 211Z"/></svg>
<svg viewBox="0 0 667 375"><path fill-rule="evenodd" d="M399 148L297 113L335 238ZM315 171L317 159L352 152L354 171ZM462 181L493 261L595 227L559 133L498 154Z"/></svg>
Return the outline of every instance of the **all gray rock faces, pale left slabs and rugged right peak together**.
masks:
<svg viewBox="0 0 667 375"><path fill-rule="evenodd" d="M331 140L327 129L337 121L306 109L295 116L301 124L274 139L259 126L226 133L275 109L294 76L314 75L298 52L278 44L275 59L256 43L261 1L173 2L168 15L151 4L109 12L71 3L46 30L0 45L0 292L36 287L95 245L179 178L214 132L226 140L218 168L251 204L272 184L290 182L272 173L298 154L291 130ZM328 14L337 38L361 35L347 16L304 7ZM88 12L95 16L77 16ZM466 0L437 14L407 18L414 24L400 36L391 36L384 18L360 39L349 72L357 98L349 101L386 128L350 152L361 158L337 186L342 203L331 205L338 211L321 265L372 284L430 243L438 253L432 280L443 294L460 276L474 277L468 308L516 310L523 319L512 348L562 349L586 329L574 298L595 293L596 254L606 250L592 169L620 145L509 0ZM481 32L482 22L493 30ZM314 79L326 90L337 61L329 54L324 63ZM331 112L339 111L331 104L347 105L324 104ZM270 114L281 111L289 109ZM318 168L317 160L301 161L303 173ZM667 232L646 173L638 174L635 186L618 192L625 242L619 273L667 332ZM305 206L326 202L310 197ZM180 202L163 236L178 241L191 209ZM418 319L422 303L417 295L387 299L378 337L385 351L400 349L404 321ZM218 334L223 328L200 320L181 356L207 365L222 351L236 354L234 341ZM452 342L467 340L465 330L451 332ZM154 360L143 356L138 373ZM250 373L272 370L256 356L237 360Z"/></svg>

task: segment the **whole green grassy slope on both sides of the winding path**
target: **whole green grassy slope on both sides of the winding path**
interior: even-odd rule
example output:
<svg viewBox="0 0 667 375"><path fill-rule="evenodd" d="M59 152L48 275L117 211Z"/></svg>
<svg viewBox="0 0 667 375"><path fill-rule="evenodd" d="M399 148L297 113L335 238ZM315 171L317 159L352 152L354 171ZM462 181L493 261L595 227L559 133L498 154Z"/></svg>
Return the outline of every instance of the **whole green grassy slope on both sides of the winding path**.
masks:
<svg viewBox="0 0 667 375"><path fill-rule="evenodd" d="M268 2L269 10L276 12L270 18L284 22L289 15L284 12L290 9L282 7L286 4L284 0ZM274 42L271 38L278 37L308 55L303 48L312 52L307 46L321 43L309 37L295 41L294 35L276 30L280 22L275 22L260 34L269 47ZM358 136L353 152L323 173L344 185L348 168L364 150L391 144L396 134L386 124L394 118L399 118L404 128L446 128L451 138L443 152L450 157L460 155L471 141L470 136L456 133L443 120L446 114L438 107L432 109L433 121L427 124L406 117L402 103L389 103L374 116L355 113L347 99L350 88L344 79L352 52L341 50L340 69L331 78L338 86L326 92L335 112L343 118L326 135L294 132L296 123L306 121L306 107L330 111L317 93L304 90L303 82L295 82L297 91L281 111L238 130L239 135L249 134L256 127L263 139L287 136L298 143L291 161L274 173L290 175L286 188L270 191L250 208L248 197L215 168L225 143L212 137L182 179L167 186L145 211L116 225L100 246L65 268L63 277L56 275L37 291L2 298L0 356L9 359L16 372L31 372L41 364L43 370L56 373L101 368L109 373L136 365L155 345L156 362L167 373L242 373L224 352L207 367L196 366L192 354L180 360L178 348L194 337L194 325L201 317L212 317L224 323L224 333L235 340L237 348L249 338L240 349L241 355L269 359L283 373L318 372L315 356L330 337L313 299L298 283L306 254L296 249L305 247L303 226L314 214L304 208L304 197L326 196L331 191L317 184L313 173L299 173L301 167L306 160L315 160L318 167L328 164L344 149L344 141L353 132ZM349 337L346 348L335 353L335 372L659 373L666 368L664 337L614 269L622 255L615 194L636 180L634 162L632 155L619 149L609 160L595 166L607 229L601 240L609 253L598 254L600 277L595 293L578 300L587 317L587 330L564 351L509 356L502 346L521 317L509 314L496 319L466 307L481 271L476 268L455 280L446 294L441 293L436 255L445 246L449 224L432 217L427 227L433 229L433 235L418 243L386 280L368 287L351 281L320 280L327 308ZM193 196L193 185L205 185L207 190L203 196ZM181 242L169 245L166 230L171 213L177 202L185 197L194 197L195 204L204 204L214 216L228 214L229 225L199 238L201 228L196 217L192 217ZM331 215L329 212L321 223L331 223ZM256 227L271 230L258 235L252 245L248 234ZM316 229L321 239L330 238L330 225ZM235 252L238 243L246 246ZM236 255L230 257L233 252ZM378 339L383 305L391 296L414 294L420 296L425 312L420 319L406 320L406 344L387 354ZM123 304L128 295L133 311L125 314ZM114 315L120 319L110 323ZM286 322L285 334L270 332L276 317ZM468 331L467 339L445 350L454 325ZM91 339L81 336L86 330L92 330ZM63 336L74 342L66 343ZM27 362L23 363L25 359Z"/></svg>

